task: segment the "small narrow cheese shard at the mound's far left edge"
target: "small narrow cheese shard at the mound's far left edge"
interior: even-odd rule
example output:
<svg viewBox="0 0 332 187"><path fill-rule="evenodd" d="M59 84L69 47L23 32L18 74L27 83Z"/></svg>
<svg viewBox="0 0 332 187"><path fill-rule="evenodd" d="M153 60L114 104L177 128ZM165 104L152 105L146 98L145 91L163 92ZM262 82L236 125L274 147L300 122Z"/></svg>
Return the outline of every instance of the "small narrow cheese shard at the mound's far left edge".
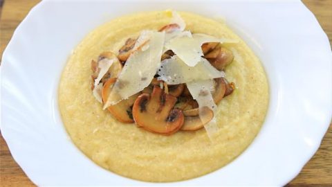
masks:
<svg viewBox="0 0 332 187"><path fill-rule="evenodd" d="M102 77L109 71L109 68L113 64L113 59L104 58L98 62L98 69L100 69L98 73L98 77L95 79L94 88L93 88L93 96L98 100L99 103L102 103Z"/></svg>

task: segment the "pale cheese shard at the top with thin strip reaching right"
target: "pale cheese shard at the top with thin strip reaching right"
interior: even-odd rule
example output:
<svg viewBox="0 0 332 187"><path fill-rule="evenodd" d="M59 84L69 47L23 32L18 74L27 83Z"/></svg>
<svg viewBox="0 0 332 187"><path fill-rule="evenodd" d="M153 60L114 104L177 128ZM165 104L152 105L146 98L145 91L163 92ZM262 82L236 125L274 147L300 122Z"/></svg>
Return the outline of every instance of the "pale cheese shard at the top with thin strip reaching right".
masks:
<svg viewBox="0 0 332 187"><path fill-rule="evenodd" d="M198 33L193 34L192 37L183 35L169 39L169 41L165 43L165 48L166 50L172 50L188 66L196 66L204 55L201 46L207 42L231 43L237 41L234 39L219 39Z"/></svg>

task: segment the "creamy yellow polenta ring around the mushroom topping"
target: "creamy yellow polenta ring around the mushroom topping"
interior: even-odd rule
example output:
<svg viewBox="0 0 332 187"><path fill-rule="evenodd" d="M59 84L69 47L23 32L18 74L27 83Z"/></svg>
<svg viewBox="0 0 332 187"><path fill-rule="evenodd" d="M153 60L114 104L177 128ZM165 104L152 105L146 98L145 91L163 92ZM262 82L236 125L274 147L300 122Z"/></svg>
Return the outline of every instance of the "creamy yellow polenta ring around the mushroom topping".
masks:
<svg viewBox="0 0 332 187"><path fill-rule="evenodd" d="M142 181L180 181L217 170L236 158L255 138L266 116L268 83L259 59L224 24L180 12L192 33L238 39L229 44L242 60L226 67L226 78L237 89L219 103L217 136L204 129L162 136L135 124L120 123L93 97L91 60L114 51L141 30L169 24L166 12L143 12L120 17L96 28L75 48L59 84L59 109L68 134L87 157L112 172Z"/></svg>

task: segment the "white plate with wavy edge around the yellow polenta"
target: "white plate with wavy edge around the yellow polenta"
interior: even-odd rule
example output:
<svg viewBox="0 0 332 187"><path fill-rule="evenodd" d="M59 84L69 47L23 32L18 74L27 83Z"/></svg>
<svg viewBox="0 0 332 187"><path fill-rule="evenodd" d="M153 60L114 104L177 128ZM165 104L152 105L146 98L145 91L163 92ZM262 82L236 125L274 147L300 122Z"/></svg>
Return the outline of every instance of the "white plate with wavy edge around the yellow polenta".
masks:
<svg viewBox="0 0 332 187"><path fill-rule="evenodd" d="M167 185L282 186L313 156L331 120L332 57L329 40L301 2L43 1L15 31L1 66L1 133L35 184L149 184L96 166L71 143L59 118L57 86L71 50L93 28L129 12L167 8L224 17L259 56L270 84L266 121L243 154L209 175Z"/></svg>

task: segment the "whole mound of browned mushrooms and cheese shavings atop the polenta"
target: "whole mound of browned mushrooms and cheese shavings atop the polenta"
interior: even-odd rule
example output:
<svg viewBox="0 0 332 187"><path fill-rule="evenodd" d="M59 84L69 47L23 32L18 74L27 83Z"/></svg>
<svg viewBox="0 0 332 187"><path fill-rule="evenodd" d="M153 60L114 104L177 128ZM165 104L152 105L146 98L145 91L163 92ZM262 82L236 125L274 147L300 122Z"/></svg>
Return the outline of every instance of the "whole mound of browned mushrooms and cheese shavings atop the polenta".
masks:
<svg viewBox="0 0 332 187"><path fill-rule="evenodd" d="M235 88L225 79L234 55L224 45L234 42L191 33L172 12L168 25L92 60L93 96L122 123L163 135L205 127L211 136L216 105Z"/></svg>

